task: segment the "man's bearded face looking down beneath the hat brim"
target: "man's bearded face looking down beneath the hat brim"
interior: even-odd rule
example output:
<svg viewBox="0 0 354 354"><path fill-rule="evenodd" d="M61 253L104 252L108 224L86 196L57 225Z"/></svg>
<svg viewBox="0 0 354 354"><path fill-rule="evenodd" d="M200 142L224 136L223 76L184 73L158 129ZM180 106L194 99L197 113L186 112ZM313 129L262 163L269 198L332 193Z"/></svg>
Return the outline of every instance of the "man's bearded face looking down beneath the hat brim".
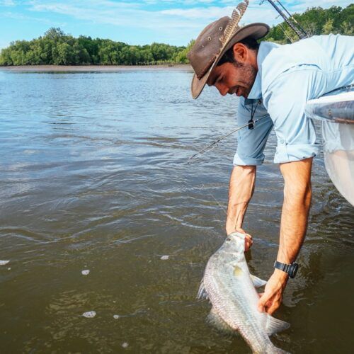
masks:
<svg viewBox="0 0 354 354"><path fill-rule="evenodd" d="M215 67L207 80L207 85L215 86L222 96L229 93L247 98L256 79L256 74L256 68L248 62L227 62Z"/></svg>

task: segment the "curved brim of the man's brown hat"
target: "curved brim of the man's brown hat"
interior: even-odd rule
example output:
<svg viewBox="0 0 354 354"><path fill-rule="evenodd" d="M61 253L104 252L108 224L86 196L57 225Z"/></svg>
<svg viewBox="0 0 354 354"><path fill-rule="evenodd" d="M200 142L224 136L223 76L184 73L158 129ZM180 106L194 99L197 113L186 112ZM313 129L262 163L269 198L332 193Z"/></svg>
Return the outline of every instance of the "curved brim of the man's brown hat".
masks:
<svg viewBox="0 0 354 354"><path fill-rule="evenodd" d="M212 73L212 70L217 66L219 60L222 58L224 53L232 47L232 45L234 45L236 42L239 42L240 40L243 40L246 37L251 37L255 40L259 40L260 38L263 38L268 32L269 26L265 23L251 23L240 28L229 40L229 42L227 42L224 47L222 47L222 50L215 58L215 61L212 63L212 66L207 71L207 73L202 76L201 79L198 79L198 77L194 74L192 79L192 85L190 87L192 97L194 99L199 97L200 93L202 93L202 89L204 89L204 86L207 83L207 79L209 79L209 76Z"/></svg>

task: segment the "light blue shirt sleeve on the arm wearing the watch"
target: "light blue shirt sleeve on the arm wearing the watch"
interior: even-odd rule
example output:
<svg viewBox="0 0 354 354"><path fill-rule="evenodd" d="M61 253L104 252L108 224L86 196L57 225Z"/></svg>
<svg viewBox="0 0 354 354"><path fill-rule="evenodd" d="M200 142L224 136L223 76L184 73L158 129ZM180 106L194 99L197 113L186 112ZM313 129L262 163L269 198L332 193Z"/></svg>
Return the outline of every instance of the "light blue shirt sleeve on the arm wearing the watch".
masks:
<svg viewBox="0 0 354 354"><path fill-rule="evenodd" d="M321 86L316 69L297 69L281 74L263 91L264 105L274 123L278 146L275 164L316 156L314 122L304 113L306 103Z"/></svg>

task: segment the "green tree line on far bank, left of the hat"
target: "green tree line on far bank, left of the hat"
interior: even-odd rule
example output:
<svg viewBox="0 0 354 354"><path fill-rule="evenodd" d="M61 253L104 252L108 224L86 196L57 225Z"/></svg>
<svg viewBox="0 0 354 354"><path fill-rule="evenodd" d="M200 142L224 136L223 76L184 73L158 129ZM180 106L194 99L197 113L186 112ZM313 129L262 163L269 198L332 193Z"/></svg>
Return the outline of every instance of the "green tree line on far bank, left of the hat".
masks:
<svg viewBox="0 0 354 354"><path fill-rule="evenodd" d="M188 47L161 43L127 45L113 40L92 39L84 35L74 38L60 28L50 28L34 40L18 40L1 50L0 65L145 65L186 63Z"/></svg>

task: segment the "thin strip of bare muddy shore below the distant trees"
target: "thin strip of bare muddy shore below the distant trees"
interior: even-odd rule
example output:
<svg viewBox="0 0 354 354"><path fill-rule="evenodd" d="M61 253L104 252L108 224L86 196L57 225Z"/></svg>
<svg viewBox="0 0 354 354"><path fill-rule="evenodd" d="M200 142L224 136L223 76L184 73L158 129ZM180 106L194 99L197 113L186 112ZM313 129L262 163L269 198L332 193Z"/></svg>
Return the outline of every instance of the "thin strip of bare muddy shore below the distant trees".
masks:
<svg viewBox="0 0 354 354"><path fill-rule="evenodd" d="M144 71L193 72L189 64L171 65L20 65L0 67L4 72L144 72Z"/></svg>

